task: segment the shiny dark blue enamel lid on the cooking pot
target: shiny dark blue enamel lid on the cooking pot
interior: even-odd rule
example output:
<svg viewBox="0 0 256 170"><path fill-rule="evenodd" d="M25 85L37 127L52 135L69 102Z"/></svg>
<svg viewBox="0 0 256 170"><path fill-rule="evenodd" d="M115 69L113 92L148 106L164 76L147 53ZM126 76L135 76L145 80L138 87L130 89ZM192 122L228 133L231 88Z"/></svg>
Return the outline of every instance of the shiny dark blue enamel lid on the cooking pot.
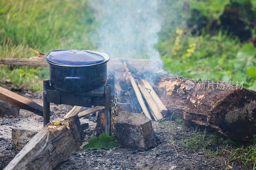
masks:
<svg viewBox="0 0 256 170"><path fill-rule="evenodd" d="M108 55L107 55L108 56ZM46 55L52 63L71 66L83 66L102 63L109 59L105 53L90 50L55 50Z"/></svg>

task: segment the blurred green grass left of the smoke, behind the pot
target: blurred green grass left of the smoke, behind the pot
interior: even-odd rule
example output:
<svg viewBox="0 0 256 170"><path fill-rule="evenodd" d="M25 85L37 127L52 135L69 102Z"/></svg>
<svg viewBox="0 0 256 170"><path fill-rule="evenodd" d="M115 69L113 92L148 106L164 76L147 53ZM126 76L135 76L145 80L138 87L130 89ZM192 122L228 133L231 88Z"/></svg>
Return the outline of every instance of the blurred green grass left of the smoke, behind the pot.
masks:
<svg viewBox="0 0 256 170"><path fill-rule="evenodd" d="M87 1L0 0L0 57L35 56L29 48L49 53L55 49L96 49L90 42L97 23ZM0 66L0 82L12 88L42 90L49 69ZM8 84L7 84L8 85Z"/></svg>

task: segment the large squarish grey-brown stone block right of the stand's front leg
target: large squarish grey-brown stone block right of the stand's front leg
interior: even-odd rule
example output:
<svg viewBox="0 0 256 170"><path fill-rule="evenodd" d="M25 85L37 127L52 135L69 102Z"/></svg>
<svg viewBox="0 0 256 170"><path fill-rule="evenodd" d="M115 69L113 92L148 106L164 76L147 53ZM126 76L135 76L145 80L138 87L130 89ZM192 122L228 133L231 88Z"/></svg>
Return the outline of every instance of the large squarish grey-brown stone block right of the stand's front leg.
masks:
<svg viewBox="0 0 256 170"><path fill-rule="evenodd" d="M142 114L120 112L116 117L116 140L119 146L146 151L156 146L156 136L151 121Z"/></svg>

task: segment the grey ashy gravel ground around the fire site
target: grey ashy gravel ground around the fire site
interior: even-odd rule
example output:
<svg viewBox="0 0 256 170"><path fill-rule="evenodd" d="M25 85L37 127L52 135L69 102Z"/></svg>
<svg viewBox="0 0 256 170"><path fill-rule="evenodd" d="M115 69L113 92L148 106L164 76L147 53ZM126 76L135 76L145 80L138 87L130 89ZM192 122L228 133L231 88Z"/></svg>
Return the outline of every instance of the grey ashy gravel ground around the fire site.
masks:
<svg viewBox="0 0 256 170"><path fill-rule="evenodd" d="M42 92L20 92L21 95L42 104ZM72 106L51 104L54 115L64 116ZM95 128L95 117L80 119L81 123L89 123L84 130L87 140ZM0 118L0 170L3 169L19 152L12 148L11 128L20 127L25 129L40 130L43 127L43 118L26 110L20 110L19 117ZM63 169L230 169L225 158L212 158L204 156L202 150L188 152L179 147L180 138L188 138L192 134L189 127L169 121L165 123L153 122L158 145L145 152L132 151L121 147L111 150L83 150L78 149L69 159L60 163L55 170ZM203 130L202 130L203 131ZM203 133L203 132L202 132ZM206 135L211 133L206 132ZM226 163L225 163L226 162ZM240 166L233 165L238 170ZM231 168L232 169L232 168Z"/></svg>

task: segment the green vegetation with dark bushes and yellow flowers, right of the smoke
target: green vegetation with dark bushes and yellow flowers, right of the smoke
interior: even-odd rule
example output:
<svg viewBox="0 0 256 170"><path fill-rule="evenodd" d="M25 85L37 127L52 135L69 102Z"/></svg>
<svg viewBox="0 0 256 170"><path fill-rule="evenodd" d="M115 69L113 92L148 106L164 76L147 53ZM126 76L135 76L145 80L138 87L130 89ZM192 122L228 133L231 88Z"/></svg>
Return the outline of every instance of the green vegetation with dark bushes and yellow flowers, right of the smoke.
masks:
<svg viewBox="0 0 256 170"><path fill-rule="evenodd" d="M188 15L174 12L164 20L157 45L164 67L174 76L234 84L244 81L243 87L256 90L255 1L175 2L166 3L174 11L184 11L187 5ZM236 17L228 18L230 11Z"/></svg>

